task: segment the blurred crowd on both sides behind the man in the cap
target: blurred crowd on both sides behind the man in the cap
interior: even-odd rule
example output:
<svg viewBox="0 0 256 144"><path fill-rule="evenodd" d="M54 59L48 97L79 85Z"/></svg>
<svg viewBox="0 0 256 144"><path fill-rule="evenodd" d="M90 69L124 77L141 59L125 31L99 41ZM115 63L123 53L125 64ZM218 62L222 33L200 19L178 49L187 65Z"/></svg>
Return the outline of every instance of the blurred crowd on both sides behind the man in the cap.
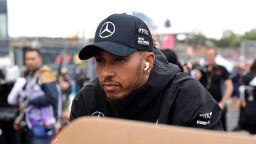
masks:
<svg viewBox="0 0 256 144"><path fill-rule="evenodd" d="M223 110L225 130L228 106L230 111L240 113L238 126L233 131L256 134L256 59L248 67L236 65L228 72L215 62L218 55L215 48L206 50L204 65L189 60L181 63L171 49L161 52L170 63L208 89ZM50 143L69 123L75 95L89 83L82 70L60 67L59 72L53 72L43 65L38 50L27 50L25 55L26 69L20 69L20 78L6 79L8 68L0 70L0 143L3 144Z"/></svg>

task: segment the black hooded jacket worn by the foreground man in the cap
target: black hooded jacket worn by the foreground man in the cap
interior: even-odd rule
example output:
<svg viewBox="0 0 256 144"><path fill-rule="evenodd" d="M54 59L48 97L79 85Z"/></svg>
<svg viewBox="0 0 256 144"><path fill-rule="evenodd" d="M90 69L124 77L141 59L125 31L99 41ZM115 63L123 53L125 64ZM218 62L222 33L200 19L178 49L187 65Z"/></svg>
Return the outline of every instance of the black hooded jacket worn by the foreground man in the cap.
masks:
<svg viewBox="0 0 256 144"><path fill-rule="evenodd" d="M221 110L196 79L180 72L154 48L156 61L143 87L118 103L107 101L98 79L73 100L70 121L80 116L107 116L178 126L222 129Z"/></svg>

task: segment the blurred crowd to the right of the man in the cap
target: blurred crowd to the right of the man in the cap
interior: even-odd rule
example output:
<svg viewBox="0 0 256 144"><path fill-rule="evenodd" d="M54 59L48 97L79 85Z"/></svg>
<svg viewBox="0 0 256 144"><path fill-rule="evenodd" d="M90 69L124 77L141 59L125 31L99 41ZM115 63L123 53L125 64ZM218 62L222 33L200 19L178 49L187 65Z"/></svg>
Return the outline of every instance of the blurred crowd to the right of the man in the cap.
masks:
<svg viewBox="0 0 256 144"><path fill-rule="evenodd" d="M198 79L210 92L223 110L221 121L227 131L227 109L238 112L238 124L231 131L246 131L256 134L256 57L252 63L237 62L231 72L225 65L218 65L216 57L218 50L208 48L205 53L206 62L191 62L181 64L174 50L161 50L170 63L180 67L182 72ZM224 62L223 62L224 63Z"/></svg>

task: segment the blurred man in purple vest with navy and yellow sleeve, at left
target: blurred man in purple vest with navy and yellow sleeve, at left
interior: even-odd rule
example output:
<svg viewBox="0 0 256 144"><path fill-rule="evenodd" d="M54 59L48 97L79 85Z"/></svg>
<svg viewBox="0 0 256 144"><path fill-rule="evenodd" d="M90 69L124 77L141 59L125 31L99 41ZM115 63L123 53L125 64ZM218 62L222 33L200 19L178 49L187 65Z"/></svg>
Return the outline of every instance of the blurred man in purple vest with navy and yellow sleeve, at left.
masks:
<svg viewBox="0 0 256 144"><path fill-rule="evenodd" d="M18 128L25 113L31 143L50 143L61 111L60 89L53 72L42 65L43 58L38 49L26 49L25 63L27 72L23 92L9 95L9 103L20 104L21 109L14 126Z"/></svg>

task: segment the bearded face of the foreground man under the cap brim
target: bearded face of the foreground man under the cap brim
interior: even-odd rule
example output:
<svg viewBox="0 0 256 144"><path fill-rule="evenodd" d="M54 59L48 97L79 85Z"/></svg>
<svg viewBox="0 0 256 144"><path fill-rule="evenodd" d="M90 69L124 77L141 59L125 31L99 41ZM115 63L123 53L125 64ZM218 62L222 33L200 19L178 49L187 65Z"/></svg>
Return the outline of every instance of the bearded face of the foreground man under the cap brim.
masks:
<svg viewBox="0 0 256 144"><path fill-rule="evenodd" d="M104 50L98 50L95 59L97 77L110 101L122 99L142 86L143 68L140 52L134 52L128 57L117 57Z"/></svg>

